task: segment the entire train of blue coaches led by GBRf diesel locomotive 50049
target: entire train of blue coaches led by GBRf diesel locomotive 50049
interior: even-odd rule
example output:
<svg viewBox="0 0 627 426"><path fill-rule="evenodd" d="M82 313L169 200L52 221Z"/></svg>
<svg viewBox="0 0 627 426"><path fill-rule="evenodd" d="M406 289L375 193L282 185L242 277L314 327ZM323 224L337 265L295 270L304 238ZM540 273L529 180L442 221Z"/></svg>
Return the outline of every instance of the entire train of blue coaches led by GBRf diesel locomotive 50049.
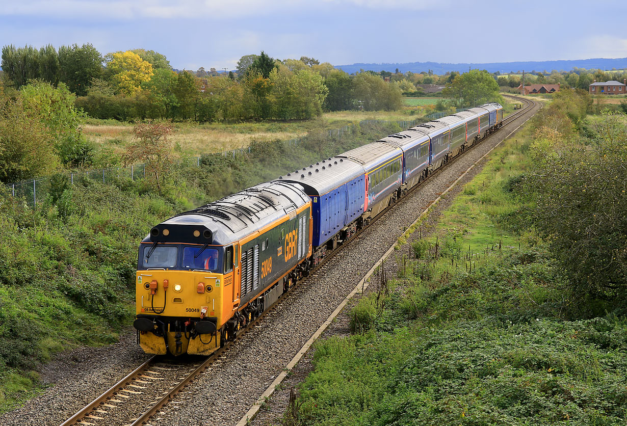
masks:
<svg viewBox="0 0 627 426"><path fill-rule="evenodd" d="M158 224L139 245L137 340L209 355L372 218L503 124L480 107L326 158Z"/></svg>

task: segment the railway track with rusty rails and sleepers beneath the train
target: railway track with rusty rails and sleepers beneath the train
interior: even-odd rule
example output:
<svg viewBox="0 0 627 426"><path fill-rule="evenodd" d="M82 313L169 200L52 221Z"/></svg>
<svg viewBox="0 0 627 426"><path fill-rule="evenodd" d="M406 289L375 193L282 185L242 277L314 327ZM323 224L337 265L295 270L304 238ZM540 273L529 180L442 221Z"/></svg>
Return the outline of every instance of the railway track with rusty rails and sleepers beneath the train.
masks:
<svg viewBox="0 0 627 426"><path fill-rule="evenodd" d="M524 116L525 114L534 110L536 105L533 100L526 100L517 96L508 96L518 99L527 104L525 108L520 109L518 112L509 115L503 119L503 127L509 123L514 122L517 118ZM498 132L498 134L504 133ZM490 135L492 136L492 135ZM488 136L488 138L490 137ZM478 143L470 147L466 152L475 149L477 146L481 146L482 143ZM440 175L443 170L448 169L451 164L458 161L459 158L463 158L464 155L460 155L449 162L449 165L445 168L438 169L435 173L431 174L424 182L429 182L431 179L435 179ZM403 200L408 199L413 192L418 190L424 185L420 184L416 188L412 189L403 199L399 200L396 204L400 204ZM260 321L263 320L268 314L274 316L277 314L275 308L280 308L282 304L287 300L288 296L293 296L295 293L299 293L297 290L304 283L308 281L317 280L321 274L327 272L327 264L337 256L341 251L344 251L346 247L349 247L351 241L359 239L362 232L367 229L371 229L374 222L377 222L382 216L386 214L388 209L384 210L379 216L373 219L371 226L362 229L357 232L350 241L345 242L341 246L337 247L334 251L330 252L329 256L324 258L324 261L311 271L307 278L303 278L299 281L288 293L283 294L282 298L266 309L258 318L243 328L238 336L232 341L229 341L223 348L216 351L208 357L185 357L185 358L167 358L166 356L153 356L144 364L137 367L134 371L129 373L120 382L115 383L111 388L104 392L100 397L93 400L87 406L82 408L72 417L68 418L61 426L70 425L127 425L127 426L139 426L144 425L148 420L152 419L158 422L159 418L155 417L155 414L159 412L168 403L175 406L176 403L182 403L176 401L177 395L184 390L195 378L200 375L207 374L213 368L212 366L219 365L226 357L229 348L234 343L241 340L242 336L245 336L246 331L251 328L260 327ZM307 288L307 286L303 286Z"/></svg>

